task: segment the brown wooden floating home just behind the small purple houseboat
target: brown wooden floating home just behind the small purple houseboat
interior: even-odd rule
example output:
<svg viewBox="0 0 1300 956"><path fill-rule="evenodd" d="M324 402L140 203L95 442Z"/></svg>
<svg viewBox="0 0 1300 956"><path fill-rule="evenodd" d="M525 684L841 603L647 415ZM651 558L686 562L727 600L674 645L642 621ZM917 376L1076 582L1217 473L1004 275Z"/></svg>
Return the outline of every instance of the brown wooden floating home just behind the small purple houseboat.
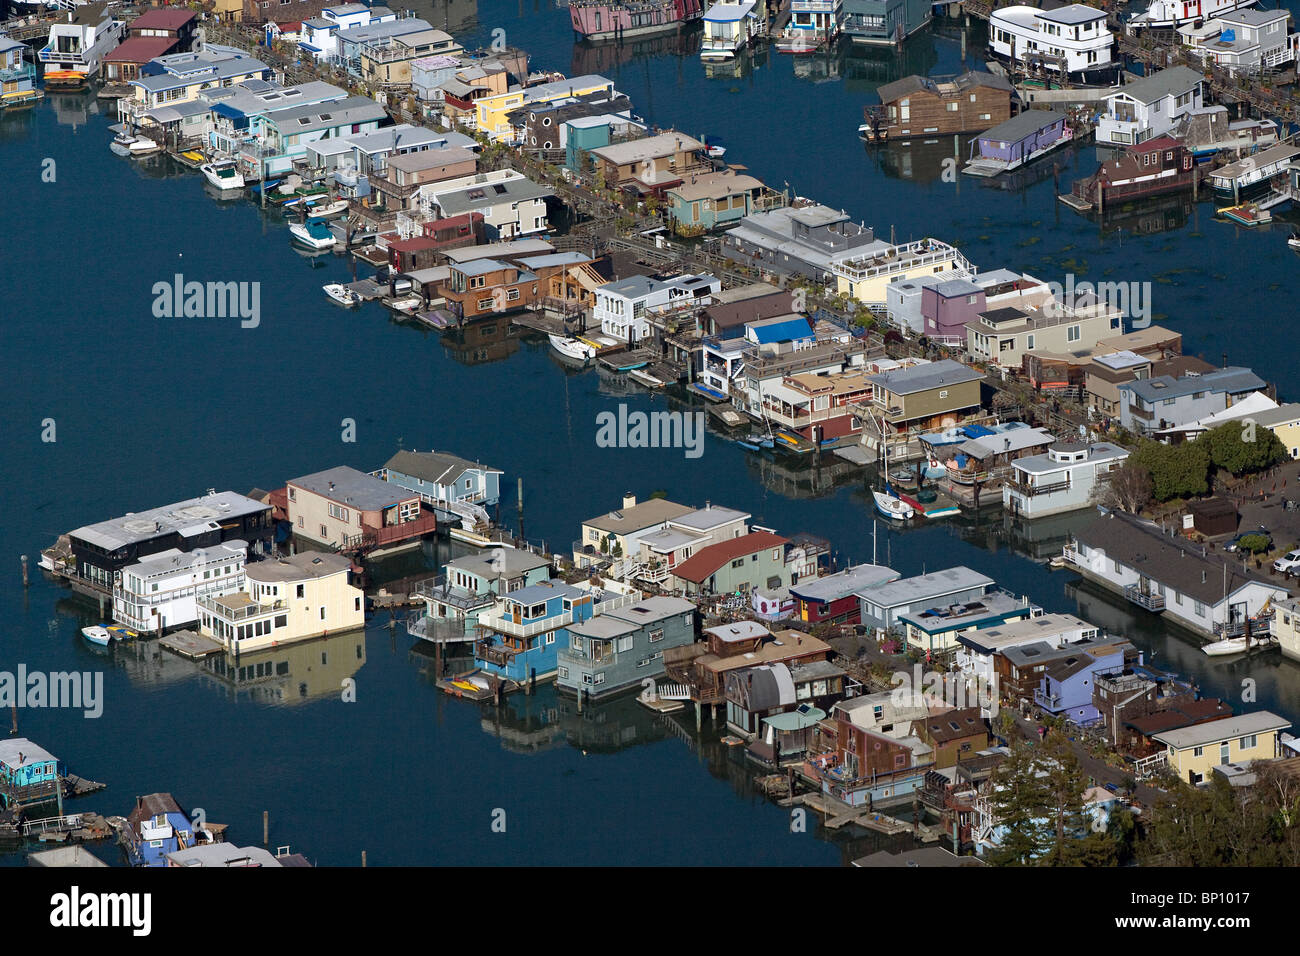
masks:
<svg viewBox="0 0 1300 956"><path fill-rule="evenodd" d="M987 130L1011 118L1014 95L1005 77L974 72L904 77L878 92L880 104L863 109L862 137L871 143Z"/></svg>

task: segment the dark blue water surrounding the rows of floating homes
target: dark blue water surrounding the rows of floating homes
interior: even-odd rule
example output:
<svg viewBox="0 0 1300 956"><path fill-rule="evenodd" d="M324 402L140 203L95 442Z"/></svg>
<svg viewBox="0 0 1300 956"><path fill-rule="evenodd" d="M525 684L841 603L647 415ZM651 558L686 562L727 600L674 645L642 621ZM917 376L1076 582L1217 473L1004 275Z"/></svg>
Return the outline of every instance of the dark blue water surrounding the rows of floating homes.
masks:
<svg viewBox="0 0 1300 956"><path fill-rule="evenodd" d="M437 23L438 21L434 20ZM533 68L575 70L567 14L550 7L482 3L477 33L503 25L533 52ZM958 42L927 35L905 65L953 73ZM1050 177L1019 193L968 179L944 183L946 152L874 155L857 140L863 103L898 64L835 60L838 78L812 83L790 59L759 62L738 79L707 78L698 60L633 56L606 69L637 112L659 125L720 137L728 159L780 186L842 206L900 239L926 233L958 241L983 268L1043 278L1067 269L1088 278L1150 278L1161 319L1187 350L1228 350L1294 390L1295 332L1282 276L1284 232L1248 233L1212 221L1201 204L1162 213L1154 235L1106 232L1061 208ZM800 69L803 69L800 66ZM458 346L391 323L378 307L347 312L320 286L348 277L344 260L294 252L283 221L247 202L216 203L196 174L164 161L131 164L108 151L110 118L92 98L49 98L0 117L0 163L10 183L0 329L10 373L0 451L8 514L0 527L0 669L101 669L104 715L23 710L20 731L84 777L109 783L81 806L125 814L136 795L170 791L209 819L272 845L290 844L325 865L469 864L837 864L870 852L870 838L831 843L792 834L788 813L755 796L706 726L682 740L623 701L576 714L550 688L495 713L438 693L430 661L411 652L386 613L370 622L364 663L335 637L328 663L295 658L272 682L283 701L233 692L176 658L103 657L78 628L91 605L32 572L23 591L18 555L70 528L202 493L276 488L333 464L373 468L399 446L451 449L506 471L503 520L519 525L514 481L525 484L524 528L564 550L584 518L624 492L662 490L702 505L746 509L754 523L833 541L836 557L872 557L872 520L861 475L829 464L789 470L710 436L705 454L597 449L595 416L620 402L654 408L675 399L572 373L545 342L507 338ZM1084 150L1061 182L1092 169ZM911 156L911 177L900 177ZM55 182L42 181L44 160ZM1063 186L1062 186L1063 187ZM187 280L256 281L261 324L155 319L152 286ZM1243 303L1249 297L1249 306ZM1251 339L1264 330L1268 347ZM478 359L477 364L474 356ZM43 442L46 419L57 441ZM342 441L355 419L356 441ZM1147 618L1095 597L1076 602L1065 575L1013 550L1001 516L979 523L879 531L876 554L905 574L975 566L1049 610L1079 610L1130 633L1157 665L1196 672L1206 693L1240 697L1258 682L1258 705L1288 715L1300 670L1275 658L1210 665ZM1050 548L1037 553L1045 554ZM424 563L439 555L429 551ZM398 562L412 574L420 559ZM342 676L356 680L343 702ZM307 684L307 696L300 685ZM0 718L3 719L3 718ZM685 722L684 722L685 723ZM495 810L506 832L493 832ZM101 851L108 855L107 851ZM18 855L5 862L21 862Z"/></svg>

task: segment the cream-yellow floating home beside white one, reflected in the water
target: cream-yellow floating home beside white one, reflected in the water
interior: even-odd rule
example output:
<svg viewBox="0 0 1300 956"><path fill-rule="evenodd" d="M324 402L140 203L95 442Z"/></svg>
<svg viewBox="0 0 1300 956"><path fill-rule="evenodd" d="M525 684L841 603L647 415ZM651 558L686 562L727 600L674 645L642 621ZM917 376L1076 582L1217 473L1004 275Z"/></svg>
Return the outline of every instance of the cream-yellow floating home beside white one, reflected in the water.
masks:
<svg viewBox="0 0 1300 956"><path fill-rule="evenodd" d="M246 567L246 591L199 600L199 632L231 653L320 637L365 626L365 594L352 562L302 551Z"/></svg>

